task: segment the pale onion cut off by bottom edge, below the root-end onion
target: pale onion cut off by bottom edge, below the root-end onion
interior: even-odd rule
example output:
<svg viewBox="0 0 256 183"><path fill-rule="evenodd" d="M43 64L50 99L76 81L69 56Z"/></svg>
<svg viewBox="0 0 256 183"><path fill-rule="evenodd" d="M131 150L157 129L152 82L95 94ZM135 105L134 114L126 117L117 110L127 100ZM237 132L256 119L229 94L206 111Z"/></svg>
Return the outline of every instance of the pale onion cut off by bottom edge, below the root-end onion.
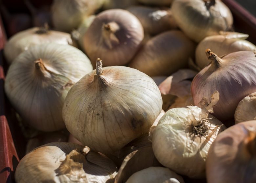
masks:
<svg viewBox="0 0 256 183"><path fill-rule="evenodd" d="M126 183L184 183L183 178L175 172L164 167L149 167L134 173Z"/></svg>

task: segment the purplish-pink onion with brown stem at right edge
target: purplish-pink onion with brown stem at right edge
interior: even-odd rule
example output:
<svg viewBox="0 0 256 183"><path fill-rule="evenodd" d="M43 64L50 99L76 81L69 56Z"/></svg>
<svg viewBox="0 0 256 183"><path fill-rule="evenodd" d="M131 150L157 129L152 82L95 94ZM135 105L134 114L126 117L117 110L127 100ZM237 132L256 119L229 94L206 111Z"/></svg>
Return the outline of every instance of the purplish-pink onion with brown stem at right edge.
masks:
<svg viewBox="0 0 256 183"><path fill-rule="evenodd" d="M239 51L219 58L206 50L211 64L201 70L193 79L191 92L195 105L203 97L209 99L214 91L220 93L220 100L213 107L219 120L233 118L238 103L250 93L256 92L256 57L252 51Z"/></svg>

